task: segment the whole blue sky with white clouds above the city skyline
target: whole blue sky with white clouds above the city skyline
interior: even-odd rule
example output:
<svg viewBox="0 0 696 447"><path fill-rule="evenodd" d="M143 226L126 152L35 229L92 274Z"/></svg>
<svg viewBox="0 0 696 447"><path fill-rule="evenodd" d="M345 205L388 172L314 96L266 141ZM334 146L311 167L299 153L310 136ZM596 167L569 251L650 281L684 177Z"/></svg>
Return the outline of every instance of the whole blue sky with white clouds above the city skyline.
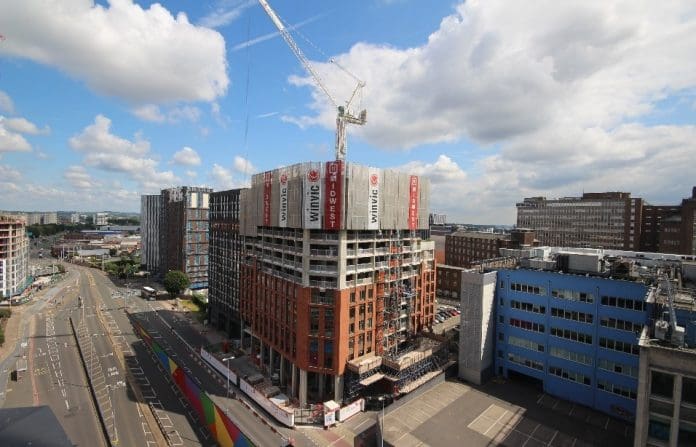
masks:
<svg viewBox="0 0 696 447"><path fill-rule="evenodd" d="M431 212L696 185L696 2L269 0L338 105L347 160ZM257 1L0 0L0 209L139 211L177 185L334 158L336 109Z"/></svg>

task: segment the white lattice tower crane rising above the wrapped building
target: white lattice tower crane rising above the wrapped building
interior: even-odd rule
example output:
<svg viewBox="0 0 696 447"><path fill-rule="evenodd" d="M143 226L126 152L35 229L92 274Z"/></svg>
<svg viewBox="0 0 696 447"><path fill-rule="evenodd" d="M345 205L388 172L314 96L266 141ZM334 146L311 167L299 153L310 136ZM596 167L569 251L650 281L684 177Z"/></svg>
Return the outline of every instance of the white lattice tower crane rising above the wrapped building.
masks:
<svg viewBox="0 0 696 447"><path fill-rule="evenodd" d="M280 20L280 17L275 13L273 8L271 8L271 5L268 4L266 0L259 0L259 3L261 3L261 6L263 9L266 11L266 14L271 18L271 21L273 24L278 28L278 31L280 32L280 35L283 36L283 39L285 42L288 44L292 52L295 54L295 56L300 60L300 63L302 63L302 66L307 70L307 72L312 76L314 79L314 82L317 84L317 86L324 92L324 94L329 98L331 103L336 107L338 110L337 116L336 116L336 160L345 160L346 158L346 152L347 152L347 141L346 141L346 125L347 124L356 124L358 126L362 126L367 122L367 110L363 109L360 111L360 113L356 116L350 111L350 104L353 102L353 99L355 99L356 95L362 90L363 87L365 87L365 83L358 79L355 75L350 73L348 70L345 68L341 67L338 62L335 60L331 59L331 62L334 63L337 67L339 67L341 70L346 72L350 77L352 77L355 81L357 81L357 85L353 89L353 93L351 94L350 98L348 101L346 101L345 106L343 105L338 105L338 102L336 99L334 99L333 95L331 92L329 92L328 88L326 85L324 85L324 82L322 82L321 77L319 77L319 73L316 72L314 67L312 67L312 64L309 62L307 57L304 55L302 52L302 49L297 45L295 40L292 38L290 35L290 32L288 29L285 27L283 22Z"/></svg>

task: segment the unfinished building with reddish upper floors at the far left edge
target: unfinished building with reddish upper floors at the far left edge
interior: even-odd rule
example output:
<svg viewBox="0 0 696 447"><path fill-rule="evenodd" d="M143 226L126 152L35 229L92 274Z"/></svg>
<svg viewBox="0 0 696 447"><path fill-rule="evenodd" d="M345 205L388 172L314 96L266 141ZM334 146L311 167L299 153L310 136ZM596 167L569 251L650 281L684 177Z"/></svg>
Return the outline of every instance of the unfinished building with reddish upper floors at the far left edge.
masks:
<svg viewBox="0 0 696 447"><path fill-rule="evenodd" d="M0 215L0 297L19 295L29 279L29 238L20 216Z"/></svg>

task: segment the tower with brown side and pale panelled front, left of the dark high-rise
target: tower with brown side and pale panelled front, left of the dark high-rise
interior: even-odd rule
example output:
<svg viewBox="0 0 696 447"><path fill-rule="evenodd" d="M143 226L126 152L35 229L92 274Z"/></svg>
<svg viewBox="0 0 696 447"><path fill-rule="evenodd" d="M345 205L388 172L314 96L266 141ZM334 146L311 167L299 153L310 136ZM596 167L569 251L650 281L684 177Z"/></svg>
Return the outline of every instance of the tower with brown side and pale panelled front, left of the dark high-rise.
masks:
<svg viewBox="0 0 696 447"><path fill-rule="evenodd" d="M159 272L186 273L190 288L208 288L208 200L210 188L163 189L159 219Z"/></svg>

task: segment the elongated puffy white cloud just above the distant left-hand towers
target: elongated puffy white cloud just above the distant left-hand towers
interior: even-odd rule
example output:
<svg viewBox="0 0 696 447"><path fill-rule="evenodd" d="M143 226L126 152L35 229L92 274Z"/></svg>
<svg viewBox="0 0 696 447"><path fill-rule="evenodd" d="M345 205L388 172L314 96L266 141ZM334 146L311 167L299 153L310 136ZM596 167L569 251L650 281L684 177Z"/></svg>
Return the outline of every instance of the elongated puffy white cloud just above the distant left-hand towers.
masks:
<svg viewBox="0 0 696 447"><path fill-rule="evenodd" d="M69 140L70 147L85 154L88 166L125 173L147 191L157 191L178 182L172 171L158 171L158 162L149 157L150 143L136 135L134 141L111 133L111 120L97 115L94 124Z"/></svg>

